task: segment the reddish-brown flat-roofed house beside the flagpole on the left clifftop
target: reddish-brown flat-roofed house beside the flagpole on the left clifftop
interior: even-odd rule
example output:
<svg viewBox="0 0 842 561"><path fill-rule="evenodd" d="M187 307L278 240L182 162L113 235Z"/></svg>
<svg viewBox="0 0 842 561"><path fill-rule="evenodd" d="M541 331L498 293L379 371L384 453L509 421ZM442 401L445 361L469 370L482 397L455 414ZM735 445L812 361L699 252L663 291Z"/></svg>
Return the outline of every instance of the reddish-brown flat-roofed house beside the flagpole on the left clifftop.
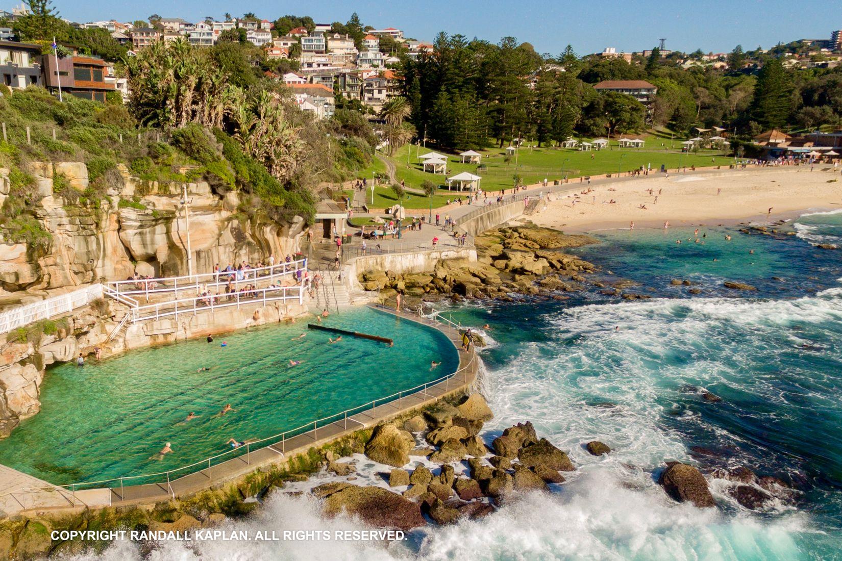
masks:
<svg viewBox="0 0 842 561"><path fill-rule="evenodd" d="M115 92L114 82L106 82L108 75L105 61L90 56L44 56L44 86L51 92L58 90L77 98L105 101L105 94Z"/></svg>

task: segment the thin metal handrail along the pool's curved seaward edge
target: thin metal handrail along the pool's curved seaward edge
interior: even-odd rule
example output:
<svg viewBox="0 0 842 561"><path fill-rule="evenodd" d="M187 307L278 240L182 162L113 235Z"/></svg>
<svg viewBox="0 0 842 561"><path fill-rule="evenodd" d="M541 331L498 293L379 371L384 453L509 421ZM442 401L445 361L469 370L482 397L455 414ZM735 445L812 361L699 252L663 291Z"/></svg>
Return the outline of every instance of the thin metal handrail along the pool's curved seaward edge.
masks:
<svg viewBox="0 0 842 561"><path fill-rule="evenodd" d="M429 318L425 317L424 315L421 315L419 313L419 310L414 310L413 313L415 315L418 315L418 317L422 320L429 320ZM443 319L445 319L445 318L443 318ZM206 465L206 466L208 466L208 468L210 468L213 460L223 458L223 457L229 456L229 455L231 455L231 458L239 458L242 455L242 453L247 453L247 454L250 453L250 449L251 449L251 447L253 447L254 444L258 444L260 442L267 442L267 441L270 441L270 440L277 442L278 439L280 439L280 441L283 442L287 437L296 437L296 436L300 436L301 434L306 434L306 432L308 432L308 431L301 432L301 433L298 433L298 434L293 434L293 433L296 433L297 431L301 431L302 429L309 429L310 427L312 427L312 430L315 431L318 428L318 423L320 423L322 421L328 421L329 419L334 419L334 421L332 421L332 423L330 423L330 424L333 424L333 422L340 421L341 418L344 416L344 419L346 420L346 425L347 425L347 418L348 418L349 413L351 413L351 415L353 416L353 415L358 415L358 414L363 413L363 412L368 411L368 410L373 411L376 408L378 402L381 403L381 405L386 405L386 403L390 403L392 400L394 400L395 397L397 397L397 399L400 400L400 399L402 399L402 397L404 397L408 394L415 393L415 392L420 391L422 389L424 389L424 392L426 392L426 390L429 389L432 386L435 386L437 384L445 382L446 380L450 380L450 378L455 378L457 375L459 375L461 373L466 373L469 368L475 367L476 363L477 363L477 354L474 351L474 347L471 346L468 362L464 366L462 366L461 368L456 369L456 371L453 372L453 373L446 374L445 376L442 376L440 378L436 378L436 379L434 379L432 381L429 381L429 382L425 382L424 384L418 384L416 386L413 386L413 388L402 389L402 390L400 390L396 393L393 393L391 395L387 395L386 397L378 398L376 400L371 400L371 401L369 401L369 402L367 402L363 405L356 405L354 407L350 407L349 409L346 409L344 411L340 411L340 412L335 413L333 415L328 415L328 416L322 417L321 419L317 419L316 421L308 421L301 426L296 426L296 428L294 428L294 429L289 429L287 431L282 431L282 432L279 432L277 434L271 435L269 437L264 437L264 438L261 438L259 440L253 441L253 442L248 442L248 444L246 446L232 448L231 450L228 450L224 453L219 453L219 454L216 454L214 456L210 456L209 458L201 459L201 460L199 460L197 462L194 462L194 463L189 463L189 464L184 465L184 466L179 466L179 468L168 469L167 471L161 471L161 472L157 472L157 473L154 473L154 474L128 475L128 476L116 477L116 478L111 478L111 479L99 479L99 480L96 480L96 481L85 481L85 482L81 482L81 483L72 483L72 484L63 484L63 485L51 484L50 488L51 489L65 489L65 490L67 490L68 488L71 488L72 490L76 490L78 487L81 487L81 486L97 485L97 484L109 484L109 483L116 483L116 482L120 482L120 484L123 484L126 480L147 479L147 478L154 478L154 477L163 476L163 475L166 475L168 480L169 480L169 476L171 474L182 472L185 469L195 468L196 466L200 466L200 465L201 466ZM374 418L374 416L373 416L373 413L372 413L372 419L373 418ZM236 455L232 455L232 454L236 454ZM218 465L218 463L217 463L217 465ZM29 489L37 490L39 488L31 487Z"/></svg>

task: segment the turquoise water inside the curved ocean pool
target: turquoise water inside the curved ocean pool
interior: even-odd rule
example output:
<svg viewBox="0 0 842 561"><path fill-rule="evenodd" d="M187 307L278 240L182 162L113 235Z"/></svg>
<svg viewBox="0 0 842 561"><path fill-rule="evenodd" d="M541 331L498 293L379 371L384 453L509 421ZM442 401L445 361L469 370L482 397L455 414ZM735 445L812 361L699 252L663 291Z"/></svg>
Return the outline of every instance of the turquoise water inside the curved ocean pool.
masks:
<svg viewBox="0 0 842 561"><path fill-rule="evenodd" d="M458 367L450 341L413 321L360 309L324 325L395 345L347 336L330 344L332 334L298 323L65 364L47 372L41 412L0 442L0 463L55 484L164 471L230 450L229 438L269 437ZM431 371L432 360L441 365ZM226 403L234 411L217 415ZM164 442L174 452L150 459Z"/></svg>

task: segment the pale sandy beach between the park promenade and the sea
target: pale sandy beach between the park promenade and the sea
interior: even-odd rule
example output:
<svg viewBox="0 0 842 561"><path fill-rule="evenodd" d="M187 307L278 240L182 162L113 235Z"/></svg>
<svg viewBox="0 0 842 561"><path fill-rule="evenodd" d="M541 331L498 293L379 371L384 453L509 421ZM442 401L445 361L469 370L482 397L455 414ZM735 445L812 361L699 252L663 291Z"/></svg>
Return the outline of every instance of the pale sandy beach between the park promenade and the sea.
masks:
<svg viewBox="0 0 842 561"><path fill-rule="evenodd" d="M808 167L747 170L720 177L658 174L592 185L591 192L584 193L588 188L584 184L573 193L549 195L529 219L537 225L581 232L628 228L632 221L636 228L661 228L665 220L670 226L732 224L767 220L767 216L788 219L807 209L842 209L839 173L810 172Z"/></svg>

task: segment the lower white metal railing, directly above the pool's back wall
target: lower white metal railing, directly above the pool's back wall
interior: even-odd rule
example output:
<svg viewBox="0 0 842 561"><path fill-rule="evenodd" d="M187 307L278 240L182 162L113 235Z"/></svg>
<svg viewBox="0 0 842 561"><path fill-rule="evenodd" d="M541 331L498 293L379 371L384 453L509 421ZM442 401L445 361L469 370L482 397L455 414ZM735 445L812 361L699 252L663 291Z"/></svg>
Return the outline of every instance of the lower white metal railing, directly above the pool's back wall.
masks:
<svg viewBox="0 0 842 561"><path fill-rule="evenodd" d="M179 314L195 314L205 310L218 310L232 306L240 307L241 304L255 304L258 302L274 302L277 300L294 300L298 304L304 303L304 293L309 282L290 286L270 286L266 288L254 288L252 290L241 290L229 294L206 294L194 298L182 298L159 302L157 304L146 304L131 309L131 321L159 320L163 317Z"/></svg>

